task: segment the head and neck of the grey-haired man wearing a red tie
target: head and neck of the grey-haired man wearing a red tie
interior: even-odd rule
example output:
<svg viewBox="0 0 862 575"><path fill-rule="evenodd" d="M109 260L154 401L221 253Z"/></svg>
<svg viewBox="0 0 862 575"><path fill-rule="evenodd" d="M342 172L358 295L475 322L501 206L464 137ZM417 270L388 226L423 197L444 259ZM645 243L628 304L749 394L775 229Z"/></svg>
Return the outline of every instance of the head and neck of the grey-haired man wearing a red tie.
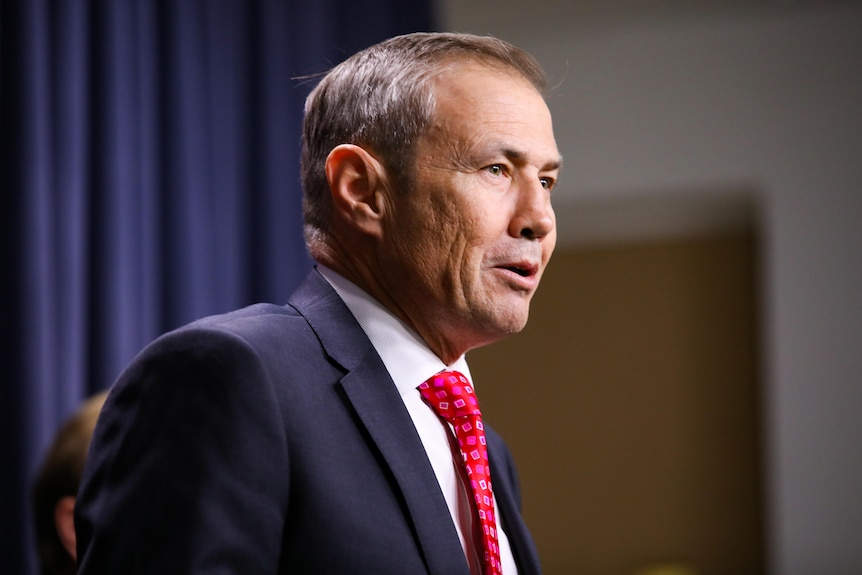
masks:
<svg viewBox="0 0 862 575"><path fill-rule="evenodd" d="M555 241L545 77L493 38L414 34L309 96L306 238L444 360L520 330Z"/></svg>

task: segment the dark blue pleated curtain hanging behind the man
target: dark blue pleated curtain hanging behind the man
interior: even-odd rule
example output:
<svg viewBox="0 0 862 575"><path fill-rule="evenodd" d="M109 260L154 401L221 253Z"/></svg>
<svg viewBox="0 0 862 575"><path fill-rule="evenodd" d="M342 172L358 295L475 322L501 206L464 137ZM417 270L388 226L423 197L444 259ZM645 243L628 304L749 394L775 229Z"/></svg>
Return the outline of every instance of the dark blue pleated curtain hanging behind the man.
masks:
<svg viewBox="0 0 862 575"><path fill-rule="evenodd" d="M431 0L2 0L4 573L36 572L29 484L85 396L309 269L296 78L432 26Z"/></svg>

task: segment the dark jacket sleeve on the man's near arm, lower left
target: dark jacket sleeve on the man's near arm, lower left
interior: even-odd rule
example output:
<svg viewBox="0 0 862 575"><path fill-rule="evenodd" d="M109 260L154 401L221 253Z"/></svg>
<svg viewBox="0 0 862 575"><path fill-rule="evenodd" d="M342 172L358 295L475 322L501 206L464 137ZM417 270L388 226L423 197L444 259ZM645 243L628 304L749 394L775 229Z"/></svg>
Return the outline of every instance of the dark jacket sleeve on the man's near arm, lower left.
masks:
<svg viewBox="0 0 862 575"><path fill-rule="evenodd" d="M277 572L287 467L254 349L218 329L164 336L97 424L75 508L78 573Z"/></svg>

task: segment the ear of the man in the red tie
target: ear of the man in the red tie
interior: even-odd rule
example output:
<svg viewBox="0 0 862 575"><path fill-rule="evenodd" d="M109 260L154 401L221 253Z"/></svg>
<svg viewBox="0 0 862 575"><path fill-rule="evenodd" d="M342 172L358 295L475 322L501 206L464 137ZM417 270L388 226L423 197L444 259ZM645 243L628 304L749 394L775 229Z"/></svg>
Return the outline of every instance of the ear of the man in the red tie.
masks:
<svg viewBox="0 0 862 575"><path fill-rule="evenodd" d="M326 158L326 181L335 211L356 229L382 232L386 179L383 165L353 144L333 148Z"/></svg>

